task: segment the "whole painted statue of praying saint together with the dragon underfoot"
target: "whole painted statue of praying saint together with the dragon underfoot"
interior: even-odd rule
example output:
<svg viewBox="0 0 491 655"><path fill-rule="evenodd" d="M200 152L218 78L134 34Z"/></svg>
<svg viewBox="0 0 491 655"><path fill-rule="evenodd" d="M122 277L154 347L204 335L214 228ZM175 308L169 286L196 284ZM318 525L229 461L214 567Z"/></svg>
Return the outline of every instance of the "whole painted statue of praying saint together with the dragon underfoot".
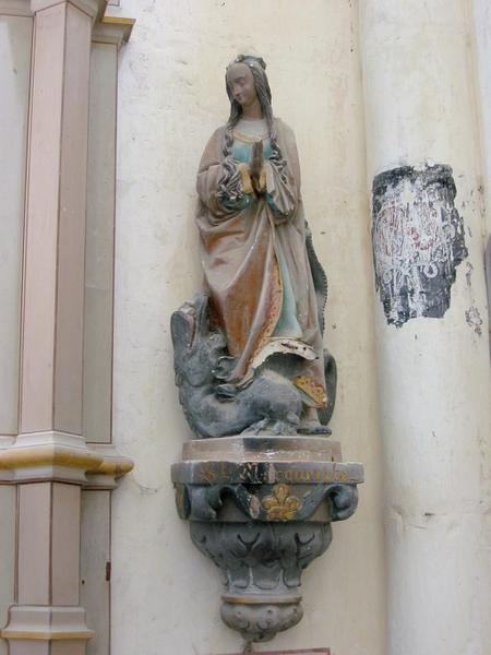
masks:
<svg viewBox="0 0 491 655"><path fill-rule="evenodd" d="M230 117L197 172L204 291L175 312L172 338L180 401L199 437L330 431L326 277L303 214L295 135L273 116L265 69L252 56L227 68Z"/></svg>

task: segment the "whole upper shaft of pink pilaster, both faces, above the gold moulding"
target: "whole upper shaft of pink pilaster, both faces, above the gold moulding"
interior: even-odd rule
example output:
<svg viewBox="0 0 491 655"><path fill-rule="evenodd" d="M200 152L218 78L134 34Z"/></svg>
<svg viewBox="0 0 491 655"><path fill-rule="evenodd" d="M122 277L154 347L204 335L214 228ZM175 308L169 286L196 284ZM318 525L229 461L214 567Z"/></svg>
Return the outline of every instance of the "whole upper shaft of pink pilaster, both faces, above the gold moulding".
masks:
<svg viewBox="0 0 491 655"><path fill-rule="evenodd" d="M32 85L22 432L82 431L91 19L37 14Z"/></svg>

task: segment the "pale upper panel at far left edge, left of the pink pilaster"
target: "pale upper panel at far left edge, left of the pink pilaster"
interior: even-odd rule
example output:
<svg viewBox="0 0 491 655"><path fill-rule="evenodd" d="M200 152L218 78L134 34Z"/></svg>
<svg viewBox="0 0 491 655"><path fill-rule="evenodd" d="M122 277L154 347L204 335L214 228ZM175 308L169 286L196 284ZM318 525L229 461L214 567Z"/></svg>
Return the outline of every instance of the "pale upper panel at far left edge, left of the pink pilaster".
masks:
<svg viewBox="0 0 491 655"><path fill-rule="evenodd" d="M33 21L0 15L0 439L17 432L26 132Z"/></svg>

